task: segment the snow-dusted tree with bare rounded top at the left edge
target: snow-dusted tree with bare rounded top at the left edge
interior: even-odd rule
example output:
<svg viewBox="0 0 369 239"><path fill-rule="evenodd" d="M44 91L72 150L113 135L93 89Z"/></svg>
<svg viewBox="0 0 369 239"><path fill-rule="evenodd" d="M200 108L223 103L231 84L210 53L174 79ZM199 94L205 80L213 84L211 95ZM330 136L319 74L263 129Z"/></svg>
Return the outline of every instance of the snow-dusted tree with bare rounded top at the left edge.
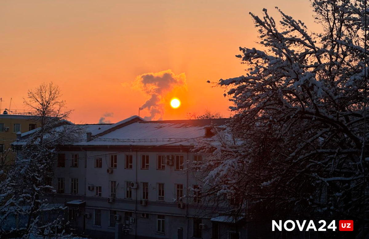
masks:
<svg viewBox="0 0 369 239"><path fill-rule="evenodd" d="M71 111L64 111L65 101L61 97L61 91L53 83L28 91L25 105L36 112L34 120L40 126L14 143L21 150L15 166L8 170L7 187L1 188L0 193L4 233L50 238L60 228L64 208L46 198L55 193L51 185L52 166L57 147L78 142L83 133L83 128L66 121ZM15 219L16 224L12 223ZM10 226L3 226L7 224Z"/></svg>

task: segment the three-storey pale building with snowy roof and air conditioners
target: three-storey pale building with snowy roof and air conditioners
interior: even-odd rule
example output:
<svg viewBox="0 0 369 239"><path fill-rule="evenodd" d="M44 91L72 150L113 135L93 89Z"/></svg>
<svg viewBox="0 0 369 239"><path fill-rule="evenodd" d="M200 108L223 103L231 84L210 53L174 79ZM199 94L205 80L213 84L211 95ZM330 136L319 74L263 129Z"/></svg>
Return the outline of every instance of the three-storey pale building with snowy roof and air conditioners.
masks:
<svg viewBox="0 0 369 239"><path fill-rule="evenodd" d="M61 147L53 203L68 206L70 232L96 238L246 238L244 218L204 206L200 182L183 170L196 139L214 140L225 119L87 125L86 138ZM191 195L191 197L186 197Z"/></svg>

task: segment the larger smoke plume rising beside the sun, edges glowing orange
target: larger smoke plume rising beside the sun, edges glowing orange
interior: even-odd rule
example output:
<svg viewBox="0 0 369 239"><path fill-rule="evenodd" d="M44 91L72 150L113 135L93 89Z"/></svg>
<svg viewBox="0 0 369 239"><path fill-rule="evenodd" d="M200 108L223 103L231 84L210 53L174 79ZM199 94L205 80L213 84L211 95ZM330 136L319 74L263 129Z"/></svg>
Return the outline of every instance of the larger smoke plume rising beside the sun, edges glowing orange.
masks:
<svg viewBox="0 0 369 239"><path fill-rule="evenodd" d="M144 119L161 120L165 112L166 95L176 88L186 89L186 75L175 75L172 70L164 70L139 75L135 83L149 96L141 106L142 110L147 109L150 112Z"/></svg>

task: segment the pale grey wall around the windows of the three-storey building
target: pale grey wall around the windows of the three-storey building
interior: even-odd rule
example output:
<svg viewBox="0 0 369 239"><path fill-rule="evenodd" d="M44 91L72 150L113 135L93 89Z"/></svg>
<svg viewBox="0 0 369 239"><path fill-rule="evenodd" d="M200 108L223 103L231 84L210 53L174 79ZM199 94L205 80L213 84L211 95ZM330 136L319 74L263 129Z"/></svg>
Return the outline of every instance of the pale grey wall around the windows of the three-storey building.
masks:
<svg viewBox="0 0 369 239"><path fill-rule="evenodd" d="M65 167L55 167L54 183L57 189L58 177L65 179L66 194L57 194L54 201L68 202L74 199L86 200L84 212L90 213L90 218L85 218L85 233L89 236L107 233L106 238L113 237L115 228L110 228L110 210L115 210L117 215L121 215L118 223L125 224L124 216L126 212L131 212L131 217L135 222L127 225L130 231L124 238L137 235L138 238L180 238L178 232L183 230L183 238L193 237L193 218L201 217L202 223L206 224L206 229L202 230L202 238L212 238L212 223L210 221L211 213L214 208L204 210L199 205L193 203L192 199L184 198L186 205L184 208L178 208L176 202L176 184L183 184L184 194L189 187L194 184L200 184L186 172L175 170L176 165L165 165L165 170L157 170L158 155L182 155L184 162L193 160L194 153L189 150L181 150L180 148L172 149L155 149L155 152L146 152L146 150L126 152L127 149L117 150L111 149L84 149L77 148L78 151L63 151L65 153ZM86 151L85 151L86 150ZM96 151L95 151L96 150ZM182 151L182 152L181 152ZM79 166L71 167L72 155L79 155ZM107 173L110 168L111 155L117 155L117 167L113 169L113 173ZM125 157L132 155L132 169L125 169ZM142 155L149 155L149 169L141 169ZM101 168L95 167L95 159L102 158ZM55 166L57 164L55 163ZM70 179L79 179L78 195L70 195ZM117 182L116 198L114 203L108 203L107 198L110 197L110 181ZM138 188L131 189L131 198L127 198L126 182L137 182ZM147 182L148 204L140 205L142 200L142 183ZM164 200L158 198L158 183L164 183L165 193ZM94 185L94 190L89 191L88 186ZM101 186L101 197L95 195L96 186ZM95 210L101 210L101 226L94 225ZM205 213L207 212L207 214ZM148 218L142 218L145 213ZM158 233L158 215L165 218L165 233ZM83 217L83 215L82 215ZM79 219L78 227L83 228L83 221ZM125 226L124 226L125 227ZM224 234L224 233L222 233ZM228 235L220 238L228 238ZM245 237L242 237L245 238Z"/></svg>

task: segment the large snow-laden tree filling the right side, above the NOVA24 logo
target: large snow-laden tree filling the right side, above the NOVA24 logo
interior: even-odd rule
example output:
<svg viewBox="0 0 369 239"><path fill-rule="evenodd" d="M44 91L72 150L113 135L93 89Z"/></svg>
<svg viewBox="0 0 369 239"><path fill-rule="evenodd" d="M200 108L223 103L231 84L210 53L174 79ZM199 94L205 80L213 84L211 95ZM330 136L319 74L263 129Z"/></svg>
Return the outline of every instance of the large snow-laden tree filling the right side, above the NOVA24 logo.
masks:
<svg viewBox="0 0 369 239"><path fill-rule="evenodd" d="M368 236L364 1L312 0L318 34L279 8L279 24L266 9L250 13L261 48L240 47L246 75L218 83L234 140L201 143L203 196L251 218L351 218L356 237Z"/></svg>

